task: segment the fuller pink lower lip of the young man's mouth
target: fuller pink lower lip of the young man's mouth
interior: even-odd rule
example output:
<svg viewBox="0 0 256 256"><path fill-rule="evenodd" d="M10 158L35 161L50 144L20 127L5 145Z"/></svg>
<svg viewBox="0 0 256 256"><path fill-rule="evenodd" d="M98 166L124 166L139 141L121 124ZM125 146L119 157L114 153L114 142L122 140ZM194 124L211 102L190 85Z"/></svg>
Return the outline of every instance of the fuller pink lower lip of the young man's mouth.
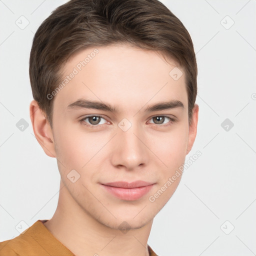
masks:
<svg viewBox="0 0 256 256"><path fill-rule="evenodd" d="M114 186L107 186L101 184L108 192L113 194L119 199L132 201L141 198L145 195L153 186L153 184L148 186L140 186L134 188L122 188L122 187L114 187Z"/></svg>

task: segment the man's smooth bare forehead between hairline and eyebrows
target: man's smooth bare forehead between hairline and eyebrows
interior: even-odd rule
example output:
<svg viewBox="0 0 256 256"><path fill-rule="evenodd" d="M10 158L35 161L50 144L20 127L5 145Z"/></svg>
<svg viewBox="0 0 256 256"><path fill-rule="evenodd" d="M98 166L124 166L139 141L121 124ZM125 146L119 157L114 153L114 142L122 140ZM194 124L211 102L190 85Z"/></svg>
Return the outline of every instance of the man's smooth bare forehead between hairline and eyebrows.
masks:
<svg viewBox="0 0 256 256"><path fill-rule="evenodd" d="M62 78L54 96L62 109L81 98L119 110L169 100L187 108L184 70L156 51L123 44L86 48L69 58Z"/></svg>

